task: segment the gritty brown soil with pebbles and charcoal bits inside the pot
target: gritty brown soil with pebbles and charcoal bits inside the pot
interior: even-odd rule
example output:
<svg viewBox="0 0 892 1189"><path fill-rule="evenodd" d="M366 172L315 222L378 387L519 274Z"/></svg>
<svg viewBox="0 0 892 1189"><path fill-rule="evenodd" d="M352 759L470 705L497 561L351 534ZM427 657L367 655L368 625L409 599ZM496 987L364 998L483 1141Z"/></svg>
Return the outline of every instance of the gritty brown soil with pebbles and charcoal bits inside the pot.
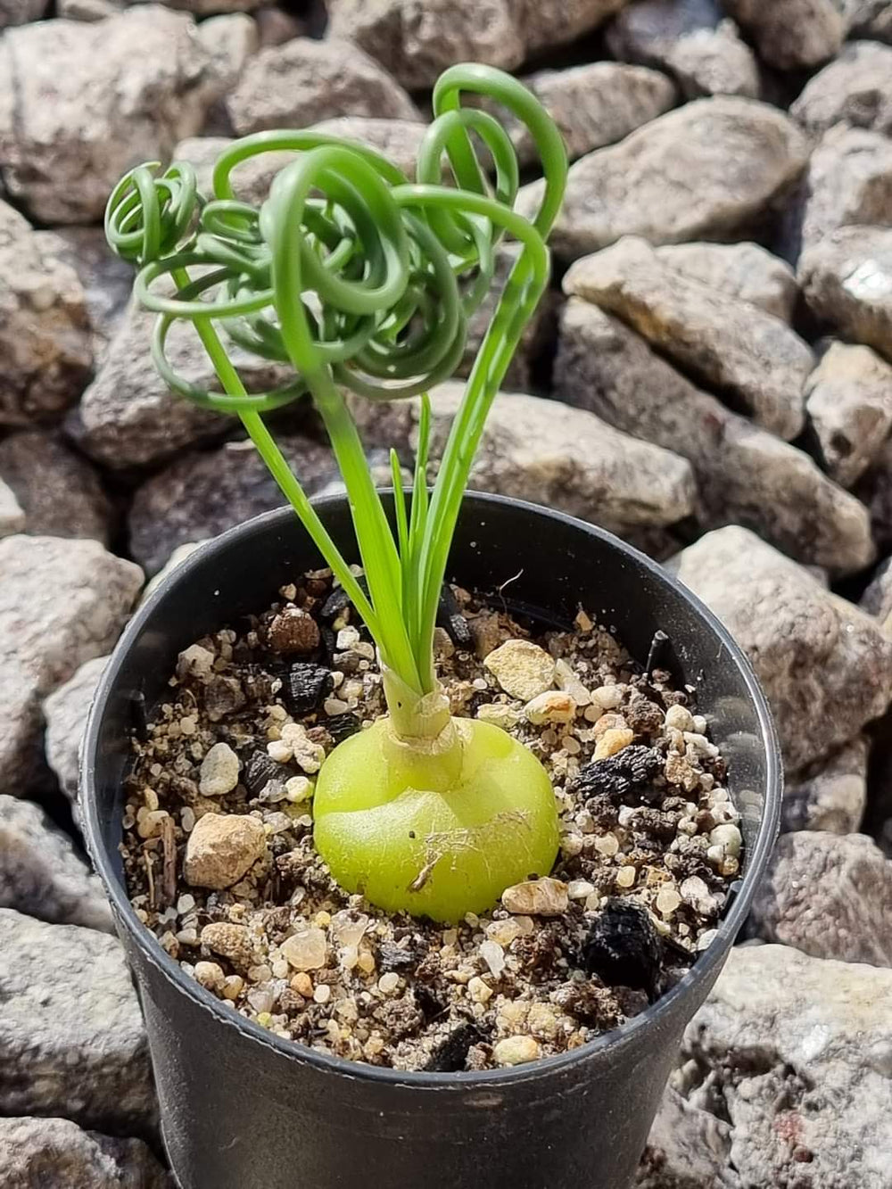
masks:
<svg viewBox="0 0 892 1189"><path fill-rule="evenodd" d="M124 818L133 906L233 1012L401 1070L490 1069L585 1044L665 993L710 943L739 814L692 688L572 631L447 592L438 672L457 715L546 766L561 845L546 877L446 927L389 917L313 847L315 773L384 712L375 649L328 571L183 652Z"/></svg>

